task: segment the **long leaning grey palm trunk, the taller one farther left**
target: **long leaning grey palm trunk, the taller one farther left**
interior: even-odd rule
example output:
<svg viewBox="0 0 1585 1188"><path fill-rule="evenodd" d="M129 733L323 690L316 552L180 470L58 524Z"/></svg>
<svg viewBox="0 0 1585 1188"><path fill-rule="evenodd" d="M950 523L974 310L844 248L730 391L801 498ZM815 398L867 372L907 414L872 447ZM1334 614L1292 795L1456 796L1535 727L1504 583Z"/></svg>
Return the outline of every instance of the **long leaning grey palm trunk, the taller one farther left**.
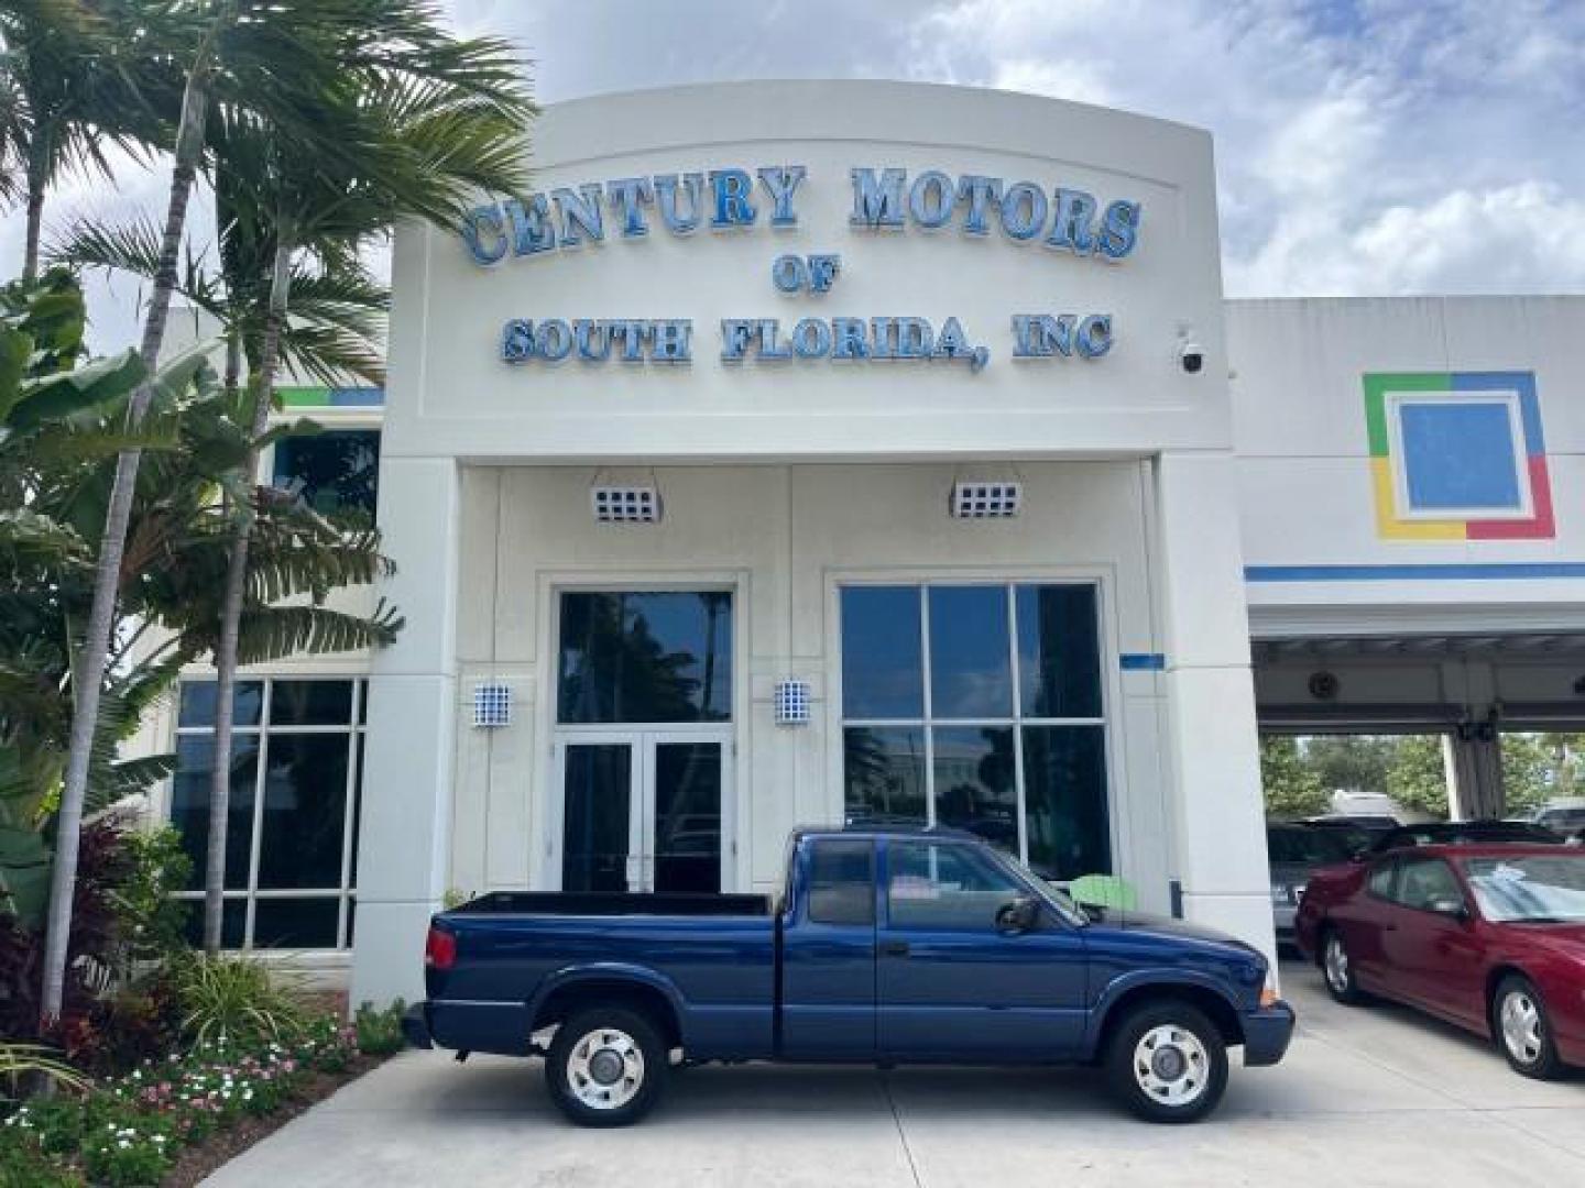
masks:
<svg viewBox="0 0 1585 1188"><path fill-rule="evenodd" d="M154 396L154 367L165 341L165 320L176 288L176 258L187 220L187 200L193 176L203 157L204 117L209 108L209 76L214 70L214 38L223 22L235 19L228 6L200 46L182 95L182 117L176 133L176 168L171 171L170 204L165 212L165 239L160 246L160 268L149 298L149 317L143 326L141 356L149 369L132 394L127 423L136 428ZM55 862L49 876L49 923L44 942L44 977L40 995L40 1023L48 1026L60 1019L67 984L67 944L71 933L71 895L78 881L78 841L82 828L82 798L87 794L89 760L98 725L100 692L109 657L109 635L116 616L116 592L120 584L120 561L127 546L127 524L132 520L132 497L138 482L138 450L125 450L116 459L116 485L111 488L105 535L100 540L94 573L94 605L87 630L71 670L73 714L71 749L67 756L67 779L60 790L60 814L55 821Z"/></svg>

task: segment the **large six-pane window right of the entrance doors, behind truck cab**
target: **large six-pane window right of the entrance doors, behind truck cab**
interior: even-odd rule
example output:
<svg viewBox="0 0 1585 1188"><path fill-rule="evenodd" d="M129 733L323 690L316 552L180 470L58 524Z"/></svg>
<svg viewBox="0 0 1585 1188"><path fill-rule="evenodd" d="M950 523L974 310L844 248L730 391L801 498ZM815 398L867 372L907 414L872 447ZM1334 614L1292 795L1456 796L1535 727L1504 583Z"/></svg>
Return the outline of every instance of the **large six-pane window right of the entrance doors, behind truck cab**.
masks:
<svg viewBox="0 0 1585 1188"><path fill-rule="evenodd" d="M1095 586L845 586L842 718L850 819L1111 870Z"/></svg>

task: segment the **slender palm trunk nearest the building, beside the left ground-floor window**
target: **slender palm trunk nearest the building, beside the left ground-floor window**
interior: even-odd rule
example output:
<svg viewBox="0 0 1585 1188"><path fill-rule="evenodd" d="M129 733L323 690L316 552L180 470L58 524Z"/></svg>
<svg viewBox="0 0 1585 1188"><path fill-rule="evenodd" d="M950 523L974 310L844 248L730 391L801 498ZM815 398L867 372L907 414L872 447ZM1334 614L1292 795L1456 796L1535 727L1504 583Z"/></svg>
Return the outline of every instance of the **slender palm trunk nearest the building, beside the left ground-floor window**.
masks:
<svg viewBox="0 0 1585 1188"><path fill-rule="evenodd" d="M292 287L292 220L276 219L276 261L269 279L269 310L265 315L265 341L260 347L258 374L254 377L254 425L244 466L244 488L258 483L258 439L269 429L274 394L276 361L281 353L281 326L285 323ZM209 771L209 865L203 889L203 947L220 950L220 925L225 911L225 832L231 802L231 724L236 689L236 634L247 594L247 548L254 535L255 508L239 507L236 539L225 570L220 602L220 640L214 653L214 767Z"/></svg>

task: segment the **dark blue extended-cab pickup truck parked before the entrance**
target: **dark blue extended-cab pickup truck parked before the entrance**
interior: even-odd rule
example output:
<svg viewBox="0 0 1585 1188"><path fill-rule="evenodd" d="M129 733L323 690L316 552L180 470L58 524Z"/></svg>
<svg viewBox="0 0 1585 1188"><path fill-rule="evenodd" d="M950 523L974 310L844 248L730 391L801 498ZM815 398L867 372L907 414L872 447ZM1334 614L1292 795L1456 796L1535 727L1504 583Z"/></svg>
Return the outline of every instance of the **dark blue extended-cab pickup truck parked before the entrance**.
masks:
<svg viewBox="0 0 1585 1188"><path fill-rule="evenodd" d="M1105 1069L1152 1121L1205 1117L1227 1049L1274 1064L1293 1011L1249 946L1081 909L970 833L805 828L780 903L496 892L437 914L418 1047L542 1055L572 1121L620 1126L674 1063Z"/></svg>

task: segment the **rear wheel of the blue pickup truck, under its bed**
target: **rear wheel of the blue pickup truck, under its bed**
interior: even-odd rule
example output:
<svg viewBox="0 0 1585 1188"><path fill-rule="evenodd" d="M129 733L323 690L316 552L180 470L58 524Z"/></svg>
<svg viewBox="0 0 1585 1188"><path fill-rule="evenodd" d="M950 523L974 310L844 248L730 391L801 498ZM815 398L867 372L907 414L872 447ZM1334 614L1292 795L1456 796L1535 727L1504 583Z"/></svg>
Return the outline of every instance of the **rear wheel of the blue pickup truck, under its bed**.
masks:
<svg viewBox="0 0 1585 1188"><path fill-rule="evenodd" d="M631 1126L661 1099L669 1055L645 1015L594 1006L556 1028L545 1082L552 1101L579 1126Z"/></svg>

